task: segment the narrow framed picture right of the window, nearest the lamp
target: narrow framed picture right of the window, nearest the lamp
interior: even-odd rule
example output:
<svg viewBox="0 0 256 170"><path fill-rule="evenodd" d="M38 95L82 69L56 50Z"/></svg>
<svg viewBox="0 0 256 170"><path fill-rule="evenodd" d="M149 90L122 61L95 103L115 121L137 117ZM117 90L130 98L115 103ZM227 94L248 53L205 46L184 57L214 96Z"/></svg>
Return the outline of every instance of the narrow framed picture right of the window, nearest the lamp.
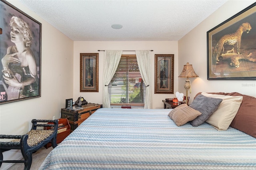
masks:
<svg viewBox="0 0 256 170"><path fill-rule="evenodd" d="M173 94L174 54L155 54L155 93Z"/></svg>

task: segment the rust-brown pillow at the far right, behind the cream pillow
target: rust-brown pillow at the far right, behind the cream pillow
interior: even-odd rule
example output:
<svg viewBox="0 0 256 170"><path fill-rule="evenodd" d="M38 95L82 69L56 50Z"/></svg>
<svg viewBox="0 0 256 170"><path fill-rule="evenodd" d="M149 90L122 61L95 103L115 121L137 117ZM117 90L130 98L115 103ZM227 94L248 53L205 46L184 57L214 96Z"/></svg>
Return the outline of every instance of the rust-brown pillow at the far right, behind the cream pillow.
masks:
<svg viewBox="0 0 256 170"><path fill-rule="evenodd" d="M240 93L228 93L230 96L243 96L241 106L230 127L236 128L256 138L256 98Z"/></svg>

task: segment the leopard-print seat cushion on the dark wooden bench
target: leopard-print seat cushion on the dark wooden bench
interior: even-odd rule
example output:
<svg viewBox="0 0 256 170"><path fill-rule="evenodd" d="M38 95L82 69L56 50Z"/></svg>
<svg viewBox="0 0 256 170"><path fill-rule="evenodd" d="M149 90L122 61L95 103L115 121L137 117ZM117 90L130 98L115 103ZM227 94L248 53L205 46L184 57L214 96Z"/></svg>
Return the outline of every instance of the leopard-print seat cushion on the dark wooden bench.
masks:
<svg viewBox="0 0 256 170"><path fill-rule="evenodd" d="M36 146L50 135L52 135L54 130L30 130L28 134L28 146ZM20 142L20 139L14 139L12 142Z"/></svg>

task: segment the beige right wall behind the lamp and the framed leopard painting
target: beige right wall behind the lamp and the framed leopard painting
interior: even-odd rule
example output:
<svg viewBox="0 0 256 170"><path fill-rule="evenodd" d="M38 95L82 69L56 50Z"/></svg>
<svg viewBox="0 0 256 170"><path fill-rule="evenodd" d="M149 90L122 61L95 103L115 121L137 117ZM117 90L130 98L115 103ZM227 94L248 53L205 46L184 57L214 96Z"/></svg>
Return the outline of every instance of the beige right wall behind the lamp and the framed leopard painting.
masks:
<svg viewBox="0 0 256 170"><path fill-rule="evenodd" d="M207 80L207 51L206 32L224 22L234 14L254 3L254 0L230 0L221 6L216 12L190 31L178 41L178 72L182 71L187 62L193 65L197 78L191 78L192 93L194 97L198 92L238 92L256 97L256 81L224 81ZM232 10L231 10L232 9ZM254 21L255 22L255 21ZM256 29L256 28L252 28ZM183 87L185 78L178 79L178 90L185 93Z"/></svg>

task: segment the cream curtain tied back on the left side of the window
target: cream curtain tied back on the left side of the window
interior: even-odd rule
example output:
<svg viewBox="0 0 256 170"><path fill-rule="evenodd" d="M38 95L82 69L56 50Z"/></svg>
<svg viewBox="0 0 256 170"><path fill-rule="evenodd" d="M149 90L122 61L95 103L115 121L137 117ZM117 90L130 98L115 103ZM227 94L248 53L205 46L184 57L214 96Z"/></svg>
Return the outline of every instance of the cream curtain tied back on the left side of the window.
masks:
<svg viewBox="0 0 256 170"><path fill-rule="evenodd" d="M104 73L103 73L103 107L110 108L108 93L108 84L116 72L120 61L122 51L105 51L104 52Z"/></svg>

